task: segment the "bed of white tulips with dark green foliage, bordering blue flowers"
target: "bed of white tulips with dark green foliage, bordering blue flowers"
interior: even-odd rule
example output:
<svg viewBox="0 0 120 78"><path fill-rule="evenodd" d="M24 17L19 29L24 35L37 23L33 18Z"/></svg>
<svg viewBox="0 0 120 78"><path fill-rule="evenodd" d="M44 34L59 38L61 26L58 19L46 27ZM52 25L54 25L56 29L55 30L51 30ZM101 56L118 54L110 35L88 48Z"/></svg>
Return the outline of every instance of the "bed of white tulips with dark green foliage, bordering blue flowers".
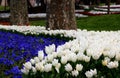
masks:
<svg viewBox="0 0 120 78"><path fill-rule="evenodd" d="M46 46L45 50L39 50L38 55L23 63L23 78L120 77L120 31L48 31L45 28L24 26L0 28L24 34L31 32L74 38L56 48L53 44Z"/></svg>

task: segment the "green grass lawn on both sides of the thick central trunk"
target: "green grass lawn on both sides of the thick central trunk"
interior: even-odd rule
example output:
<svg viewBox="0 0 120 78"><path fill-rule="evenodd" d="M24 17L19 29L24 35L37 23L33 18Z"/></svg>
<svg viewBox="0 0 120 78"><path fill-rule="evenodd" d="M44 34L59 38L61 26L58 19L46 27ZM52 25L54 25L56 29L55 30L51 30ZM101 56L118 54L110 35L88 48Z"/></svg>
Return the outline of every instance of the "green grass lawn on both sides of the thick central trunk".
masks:
<svg viewBox="0 0 120 78"><path fill-rule="evenodd" d="M45 26L45 20L31 21L30 24ZM77 18L77 26L87 30L120 30L120 14Z"/></svg>

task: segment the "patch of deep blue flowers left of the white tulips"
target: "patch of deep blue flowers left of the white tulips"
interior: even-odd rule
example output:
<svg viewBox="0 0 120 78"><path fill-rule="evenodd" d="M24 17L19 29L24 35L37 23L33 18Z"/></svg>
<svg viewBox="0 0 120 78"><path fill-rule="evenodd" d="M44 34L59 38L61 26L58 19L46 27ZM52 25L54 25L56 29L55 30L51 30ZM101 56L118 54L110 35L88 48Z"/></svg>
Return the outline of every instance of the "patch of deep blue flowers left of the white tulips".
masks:
<svg viewBox="0 0 120 78"><path fill-rule="evenodd" d="M45 46L62 45L67 40L43 35L24 35L0 31L0 78L21 78L19 68L30 58L37 56Z"/></svg>

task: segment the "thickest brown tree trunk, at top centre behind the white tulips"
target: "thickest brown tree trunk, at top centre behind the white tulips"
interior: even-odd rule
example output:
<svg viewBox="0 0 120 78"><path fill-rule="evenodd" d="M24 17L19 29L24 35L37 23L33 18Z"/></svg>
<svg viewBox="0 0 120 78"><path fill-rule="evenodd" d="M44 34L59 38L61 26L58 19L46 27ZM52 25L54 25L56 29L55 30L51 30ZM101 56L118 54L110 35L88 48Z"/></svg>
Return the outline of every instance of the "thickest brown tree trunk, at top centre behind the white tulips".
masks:
<svg viewBox="0 0 120 78"><path fill-rule="evenodd" d="M47 28L76 29L75 0L47 0Z"/></svg>

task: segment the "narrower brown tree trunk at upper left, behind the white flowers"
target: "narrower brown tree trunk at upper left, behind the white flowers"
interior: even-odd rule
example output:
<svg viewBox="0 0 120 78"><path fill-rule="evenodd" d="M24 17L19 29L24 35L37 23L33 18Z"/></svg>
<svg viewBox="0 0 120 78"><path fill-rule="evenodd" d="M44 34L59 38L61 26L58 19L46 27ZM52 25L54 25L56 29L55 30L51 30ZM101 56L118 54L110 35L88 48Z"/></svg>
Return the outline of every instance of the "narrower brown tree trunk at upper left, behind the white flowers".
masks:
<svg viewBox="0 0 120 78"><path fill-rule="evenodd" d="M11 25L28 25L27 0L10 0Z"/></svg>

